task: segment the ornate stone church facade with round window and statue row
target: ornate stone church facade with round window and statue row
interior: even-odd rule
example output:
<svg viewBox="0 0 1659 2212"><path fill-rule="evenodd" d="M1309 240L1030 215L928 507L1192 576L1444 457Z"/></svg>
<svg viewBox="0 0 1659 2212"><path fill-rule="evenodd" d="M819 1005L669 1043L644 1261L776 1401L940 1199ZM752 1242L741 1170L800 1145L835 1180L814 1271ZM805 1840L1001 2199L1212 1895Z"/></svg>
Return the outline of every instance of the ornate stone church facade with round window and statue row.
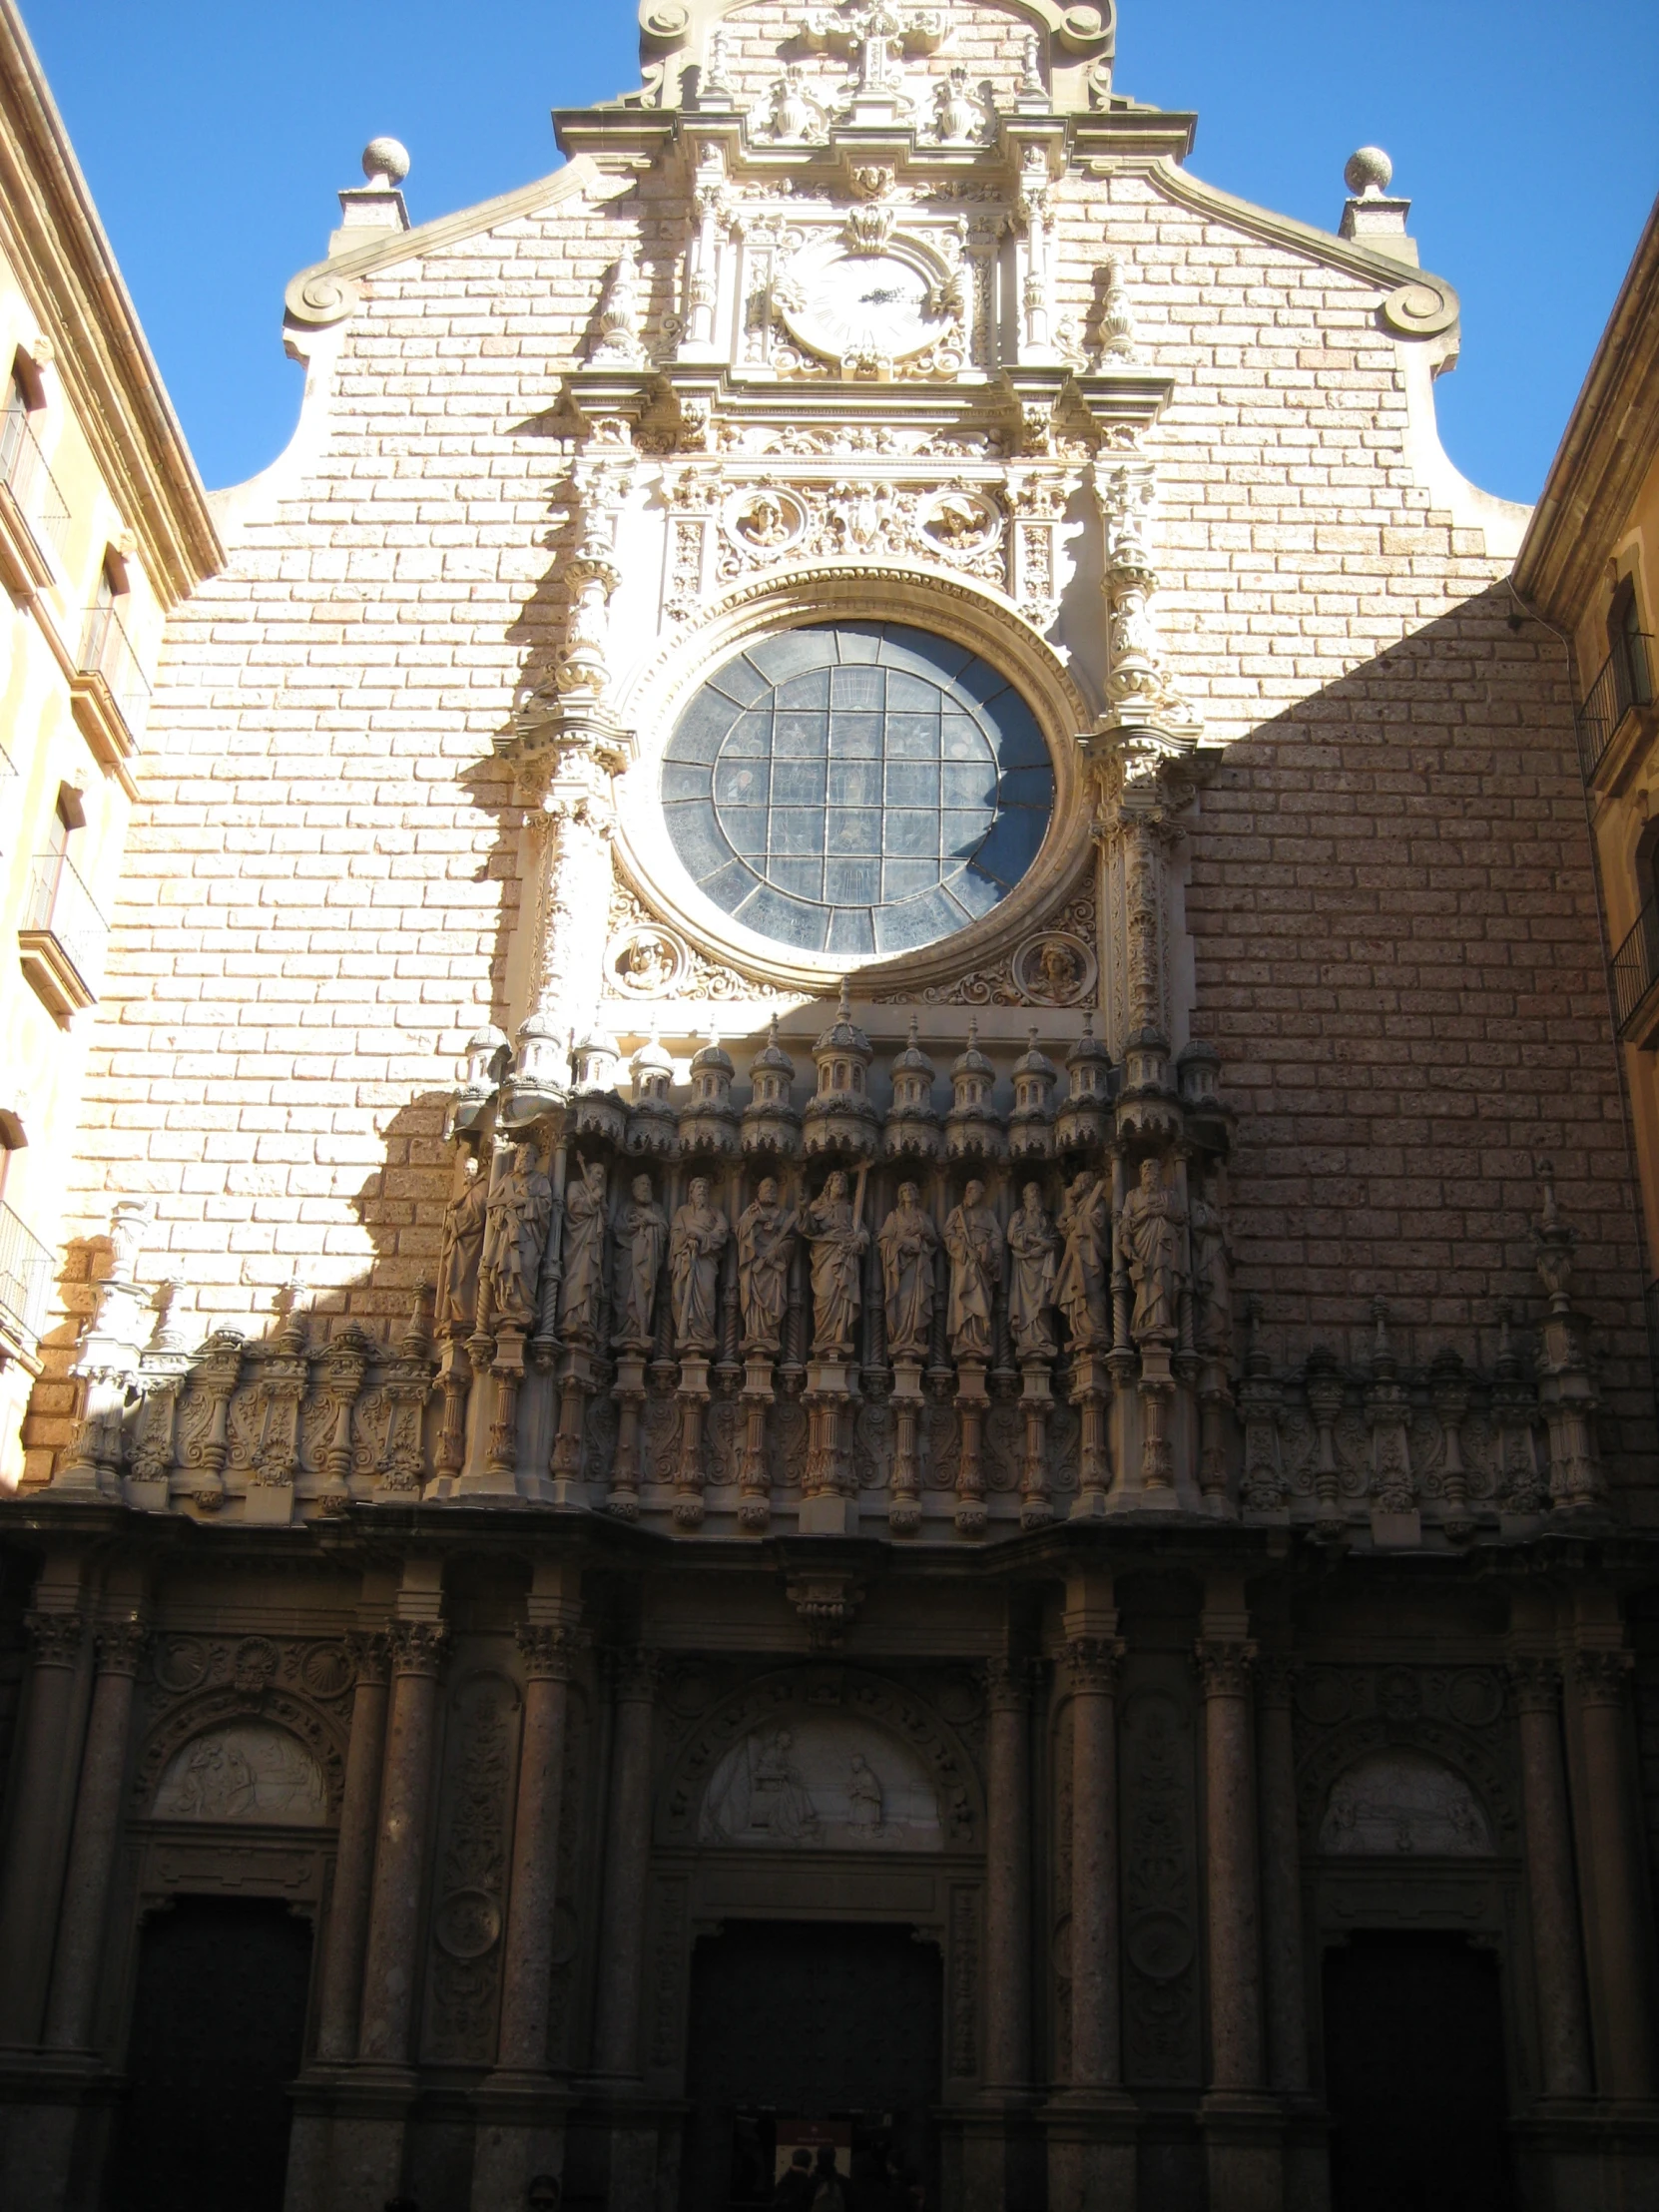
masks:
<svg viewBox="0 0 1659 2212"><path fill-rule="evenodd" d="M1230 199L1057 0L555 124L367 148L168 626L4 2201L1659 2201L1575 699L1387 157Z"/></svg>

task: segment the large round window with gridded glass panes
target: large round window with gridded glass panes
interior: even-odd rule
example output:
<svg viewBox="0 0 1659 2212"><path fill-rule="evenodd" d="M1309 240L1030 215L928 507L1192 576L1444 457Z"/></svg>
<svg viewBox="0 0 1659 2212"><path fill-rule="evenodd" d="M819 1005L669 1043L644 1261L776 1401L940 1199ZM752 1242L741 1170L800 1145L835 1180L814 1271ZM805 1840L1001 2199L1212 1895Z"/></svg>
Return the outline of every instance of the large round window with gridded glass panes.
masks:
<svg viewBox="0 0 1659 2212"><path fill-rule="evenodd" d="M876 958L1009 896L1055 772L1031 708L967 646L825 622L748 646L695 692L661 799L675 852L734 920Z"/></svg>

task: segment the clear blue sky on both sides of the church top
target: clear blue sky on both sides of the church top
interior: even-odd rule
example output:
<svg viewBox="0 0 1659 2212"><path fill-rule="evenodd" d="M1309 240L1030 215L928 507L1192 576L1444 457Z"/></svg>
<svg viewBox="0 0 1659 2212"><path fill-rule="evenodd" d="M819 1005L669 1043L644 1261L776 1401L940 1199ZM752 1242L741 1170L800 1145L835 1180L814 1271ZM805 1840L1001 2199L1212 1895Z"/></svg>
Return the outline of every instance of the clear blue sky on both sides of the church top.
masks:
<svg viewBox="0 0 1659 2212"><path fill-rule="evenodd" d="M281 451L288 276L378 131L416 221L555 166L551 106L637 82L626 0L22 0L208 484ZM1334 228L1343 161L1394 155L1464 303L1440 380L1458 467L1531 500L1659 190L1659 7L1119 0L1117 88L1197 108L1190 168Z"/></svg>

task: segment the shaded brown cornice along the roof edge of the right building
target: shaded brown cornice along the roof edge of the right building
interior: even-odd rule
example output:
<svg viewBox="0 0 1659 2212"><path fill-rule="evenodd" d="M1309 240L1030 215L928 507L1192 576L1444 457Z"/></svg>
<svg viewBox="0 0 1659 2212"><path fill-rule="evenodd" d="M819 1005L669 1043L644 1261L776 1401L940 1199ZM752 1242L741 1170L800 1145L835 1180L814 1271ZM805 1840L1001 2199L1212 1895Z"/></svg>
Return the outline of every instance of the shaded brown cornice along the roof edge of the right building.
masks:
<svg viewBox="0 0 1659 2212"><path fill-rule="evenodd" d="M1515 555L1515 588L1573 630L1659 458L1659 199Z"/></svg>

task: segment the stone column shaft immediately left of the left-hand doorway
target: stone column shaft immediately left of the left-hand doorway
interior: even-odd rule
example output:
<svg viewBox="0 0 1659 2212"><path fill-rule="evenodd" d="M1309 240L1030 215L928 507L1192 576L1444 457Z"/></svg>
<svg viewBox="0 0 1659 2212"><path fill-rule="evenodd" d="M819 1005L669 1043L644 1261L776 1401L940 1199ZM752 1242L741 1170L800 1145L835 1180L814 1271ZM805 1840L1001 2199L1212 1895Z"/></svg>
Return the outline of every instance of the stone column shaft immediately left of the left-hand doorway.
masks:
<svg viewBox="0 0 1659 2212"><path fill-rule="evenodd" d="M97 1677L80 1761L75 1829L58 1918L58 1955L46 2000L46 2044L91 2051L97 1969L104 1958L108 1885L122 1832L122 1783L133 1725L133 1683L144 1659L144 1621L131 1613L97 1628Z"/></svg>

